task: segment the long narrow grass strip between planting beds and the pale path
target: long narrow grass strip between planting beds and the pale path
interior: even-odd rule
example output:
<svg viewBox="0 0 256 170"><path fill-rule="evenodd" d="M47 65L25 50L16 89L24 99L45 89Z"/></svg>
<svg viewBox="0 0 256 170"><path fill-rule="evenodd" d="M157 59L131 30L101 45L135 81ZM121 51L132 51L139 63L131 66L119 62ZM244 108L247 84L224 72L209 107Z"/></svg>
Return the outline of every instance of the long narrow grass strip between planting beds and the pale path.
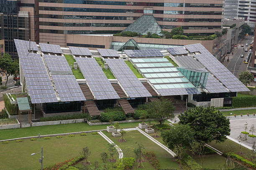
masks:
<svg viewBox="0 0 256 170"><path fill-rule="evenodd" d="M122 128L135 128L140 122L129 122L120 123ZM107 129L108 125L93 125L90 126L87 123L72 123L72 124L60 124L60 125L46 125L46 126L35 126L28 128L17 128L17 129L5 129L0 130L0 140L22 138L28 136L40 135L51 135L59 133L72 133L82 132L89 130L103 130Z"/></svg>

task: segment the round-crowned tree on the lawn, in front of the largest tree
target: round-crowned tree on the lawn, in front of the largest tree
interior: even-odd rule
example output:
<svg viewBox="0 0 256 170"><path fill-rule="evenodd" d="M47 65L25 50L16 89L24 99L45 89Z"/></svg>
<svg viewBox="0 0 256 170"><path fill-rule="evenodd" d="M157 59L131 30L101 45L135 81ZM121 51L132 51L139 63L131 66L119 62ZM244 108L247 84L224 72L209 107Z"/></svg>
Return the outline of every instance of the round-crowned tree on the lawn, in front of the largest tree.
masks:
<svg viewBox="0 0 256 170"><path fill-rule="evenodd" d="M188 125L179 124L170 130L161 131L161 137L170 150L176 150L179 165L181 166L185 150L194 140L193 130Z"/></svg>

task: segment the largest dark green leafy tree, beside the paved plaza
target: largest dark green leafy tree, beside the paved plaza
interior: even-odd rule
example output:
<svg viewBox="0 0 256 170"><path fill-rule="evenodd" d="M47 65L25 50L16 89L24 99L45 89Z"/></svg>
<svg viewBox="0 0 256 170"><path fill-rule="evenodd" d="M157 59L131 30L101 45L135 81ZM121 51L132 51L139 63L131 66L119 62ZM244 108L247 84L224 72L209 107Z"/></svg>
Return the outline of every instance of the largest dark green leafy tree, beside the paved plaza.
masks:
<svg viewBox="0 0 256 170"><path fill-rule="evenodd" d="M213 106L192 107L178 117L179 124L189 125L194 130L194 138L199 143L223 142L230 135L229 120Z"/></svg>

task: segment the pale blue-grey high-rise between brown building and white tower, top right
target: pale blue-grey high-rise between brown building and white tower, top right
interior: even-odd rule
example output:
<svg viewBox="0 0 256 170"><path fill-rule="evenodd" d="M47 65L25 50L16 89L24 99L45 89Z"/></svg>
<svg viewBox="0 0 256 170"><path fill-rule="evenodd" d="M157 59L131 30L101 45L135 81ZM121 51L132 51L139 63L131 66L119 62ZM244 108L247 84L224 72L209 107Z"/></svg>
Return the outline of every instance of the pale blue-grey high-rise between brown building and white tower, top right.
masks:
<svg viewBox="0 0 256 170"><path fill-rule="evenodd" d="M224 18L236 18L238 14L238 0L225 0Z"/></svg>

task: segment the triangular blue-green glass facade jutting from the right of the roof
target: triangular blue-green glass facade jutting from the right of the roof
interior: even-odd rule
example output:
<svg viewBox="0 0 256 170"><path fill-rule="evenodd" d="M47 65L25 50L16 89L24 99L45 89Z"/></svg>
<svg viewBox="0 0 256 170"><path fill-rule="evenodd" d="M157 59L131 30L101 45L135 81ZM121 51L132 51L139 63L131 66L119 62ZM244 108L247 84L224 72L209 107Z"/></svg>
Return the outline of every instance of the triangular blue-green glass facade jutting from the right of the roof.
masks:
<svg viewBox="0 0 256 170"><path fill-rule="evenodd" d="M187 67L177 68L195 87L200 85L201 88L205 88L209 72Z"/></svg>

